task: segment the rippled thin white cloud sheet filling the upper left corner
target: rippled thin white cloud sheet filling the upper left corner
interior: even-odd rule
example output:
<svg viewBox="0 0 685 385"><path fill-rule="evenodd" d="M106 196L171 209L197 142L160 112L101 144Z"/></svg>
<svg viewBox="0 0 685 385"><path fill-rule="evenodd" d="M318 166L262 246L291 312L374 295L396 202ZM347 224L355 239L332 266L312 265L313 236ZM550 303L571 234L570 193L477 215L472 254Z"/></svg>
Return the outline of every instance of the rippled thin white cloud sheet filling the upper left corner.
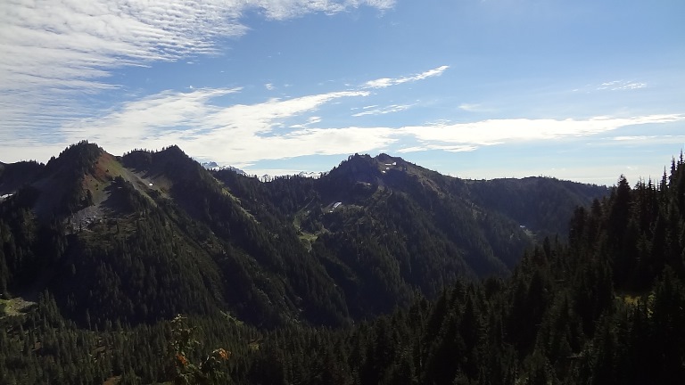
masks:
<svg viewBox="0 0 685 385"><path fill-rule="evenodd" d="M285 20L392 0L4 0L0 2L0 128L21 135L93 113L78 96L117 88L111 71L214 54L241 37L243 15ZM35 111L45 112L36 119Z"/></svg>

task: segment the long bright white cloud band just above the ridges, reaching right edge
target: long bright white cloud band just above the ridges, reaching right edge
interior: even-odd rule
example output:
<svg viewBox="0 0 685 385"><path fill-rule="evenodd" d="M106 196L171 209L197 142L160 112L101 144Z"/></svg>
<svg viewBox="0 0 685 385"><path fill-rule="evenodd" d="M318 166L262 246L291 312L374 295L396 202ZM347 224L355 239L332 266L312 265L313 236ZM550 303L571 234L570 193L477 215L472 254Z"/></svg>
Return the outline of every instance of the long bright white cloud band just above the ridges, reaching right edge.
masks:
<svg viewBox="0 0 685 385"><path fill-rule="evenodd" d="M47 153L54 154L67 144L88 138L113 153L127 152L132 147L159 149L176 143L196 158L215 160L222 165L242 165L305 155L375 152L391 147L400 153L472 152L487 145L564 140L621 127L685 121L685 115L671 114L631 118L489 119L410 127L322 127L322 119L313 112L341 99L365 98L370 92L339 91L227 107L214 102L215 98L239 91L239 88L220 88L154 94L128 102L102 118L64 124L60 131L62 143L33 143L37 146L29 151L26 150L31 144L28 138L3 137L0 133L0 140L3 140L3 152L10 158L40 159L31 154L39 151L45 154L48 150ZM374 109L362 107L363 111ZM301 124L285 127L284 123L293 119L300 119ZM616 141L635 139L616 137Z"/></svg>

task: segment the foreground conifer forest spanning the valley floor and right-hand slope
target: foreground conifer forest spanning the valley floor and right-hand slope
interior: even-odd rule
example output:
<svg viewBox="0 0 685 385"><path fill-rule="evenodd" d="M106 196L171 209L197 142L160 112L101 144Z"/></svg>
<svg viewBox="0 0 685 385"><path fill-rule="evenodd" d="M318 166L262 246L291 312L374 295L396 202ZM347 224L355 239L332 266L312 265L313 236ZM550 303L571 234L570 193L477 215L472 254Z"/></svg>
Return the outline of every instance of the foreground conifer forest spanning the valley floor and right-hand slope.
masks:
<svg viewBox="0 0 685 385"><path fill-rule="evenodd" d="M0 320L0 381L174 381L223 347L220 383L680 384L684 250L681 158L660 181L631 187L622 177L575 209L567 238L539 242L508 278L458 280L437 299L348 327L265 331L194 315L194 332L181 330L200 343L179 352L168 321L87 329L46 292L26 315Z"/></svg>

